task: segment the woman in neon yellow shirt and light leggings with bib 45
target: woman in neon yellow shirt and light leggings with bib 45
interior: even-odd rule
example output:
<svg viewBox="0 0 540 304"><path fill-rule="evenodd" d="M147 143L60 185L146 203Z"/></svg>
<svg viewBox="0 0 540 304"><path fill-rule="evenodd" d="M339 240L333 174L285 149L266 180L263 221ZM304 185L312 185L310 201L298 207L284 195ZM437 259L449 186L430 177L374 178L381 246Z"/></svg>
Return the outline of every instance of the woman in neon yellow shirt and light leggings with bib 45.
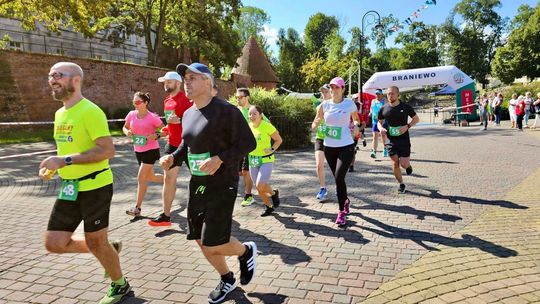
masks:
<svg viewBox="0 0 540 304"><path fill-rule="evenodd" d="M272 190L269 181L274 164L274 152L279 148L283 139L270 122L263 120L263 112L259 106L251 106L248 114L249 127L257 140L257 147L248 155L249 174L266 206L266 210L261 216L269 216L274 208L279 206L279 191ZM274 144L271 140L274 141ZM270 198L272 202L270 202Z"/></svg>

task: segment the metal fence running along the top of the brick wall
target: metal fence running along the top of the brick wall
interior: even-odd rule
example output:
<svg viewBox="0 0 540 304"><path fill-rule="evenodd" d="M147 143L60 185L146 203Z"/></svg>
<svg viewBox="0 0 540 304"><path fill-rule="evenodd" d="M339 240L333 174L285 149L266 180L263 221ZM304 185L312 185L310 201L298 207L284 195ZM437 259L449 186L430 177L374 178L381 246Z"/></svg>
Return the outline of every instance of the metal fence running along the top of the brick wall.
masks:
<svg viewBox="0 0 540 304"><path fill-rule="evenodd" d="M81 39L44 35L36 32L0 29L0 38L8 36L4 48L31 53L59 54L71 57L104 59L118 62L146 64L147 54L135 47L121 45L98 39Z"/></svg>

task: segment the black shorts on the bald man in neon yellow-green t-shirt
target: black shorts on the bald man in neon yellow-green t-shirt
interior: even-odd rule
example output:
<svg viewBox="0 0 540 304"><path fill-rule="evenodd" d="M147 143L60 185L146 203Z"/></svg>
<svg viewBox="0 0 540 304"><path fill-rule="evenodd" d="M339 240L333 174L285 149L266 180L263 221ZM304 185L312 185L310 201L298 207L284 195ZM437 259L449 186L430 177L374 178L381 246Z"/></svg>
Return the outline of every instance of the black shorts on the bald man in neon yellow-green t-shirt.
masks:
<svg viewBox="0 0 540 304"><path fill-rule="evenodd" d="M84 232L96 232L109 226L112 184L79 192L76 201L56 199L49 218L48 231L73 232L84 221Z"/></svg>

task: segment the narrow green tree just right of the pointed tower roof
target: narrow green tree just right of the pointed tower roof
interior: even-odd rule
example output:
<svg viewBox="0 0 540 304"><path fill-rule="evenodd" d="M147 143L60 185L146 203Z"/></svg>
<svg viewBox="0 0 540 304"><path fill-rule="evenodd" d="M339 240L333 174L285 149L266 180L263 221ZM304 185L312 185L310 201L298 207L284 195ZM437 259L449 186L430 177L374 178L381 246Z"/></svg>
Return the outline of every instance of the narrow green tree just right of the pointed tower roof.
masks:
<svg viewBox="0 0 540 304"><path fill-rule="evenodd" d="M286 32L279 29L277 45L279 46L279 63L276 73L283 86L294 91L304 89L304 80L298 72L306 58L306 47L300 35L293 28Z"/></svg>

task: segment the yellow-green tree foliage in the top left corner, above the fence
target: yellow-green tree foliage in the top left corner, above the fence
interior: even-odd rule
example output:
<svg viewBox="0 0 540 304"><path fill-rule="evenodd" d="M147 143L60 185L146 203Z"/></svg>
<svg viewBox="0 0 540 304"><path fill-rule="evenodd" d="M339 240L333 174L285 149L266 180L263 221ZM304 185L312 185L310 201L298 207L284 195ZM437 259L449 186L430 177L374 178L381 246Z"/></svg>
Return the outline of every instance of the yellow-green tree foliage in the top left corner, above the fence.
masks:
<svg viewBox="0 0 540 304"><path fill-rule="evenodd" d="M59 33L61 27L72 27L92 37L100 29L95 26L95 20L106 17L109 7L106 0L0 0L0 16L20 20L27 30L42 23L51 32Z"/></svg>

